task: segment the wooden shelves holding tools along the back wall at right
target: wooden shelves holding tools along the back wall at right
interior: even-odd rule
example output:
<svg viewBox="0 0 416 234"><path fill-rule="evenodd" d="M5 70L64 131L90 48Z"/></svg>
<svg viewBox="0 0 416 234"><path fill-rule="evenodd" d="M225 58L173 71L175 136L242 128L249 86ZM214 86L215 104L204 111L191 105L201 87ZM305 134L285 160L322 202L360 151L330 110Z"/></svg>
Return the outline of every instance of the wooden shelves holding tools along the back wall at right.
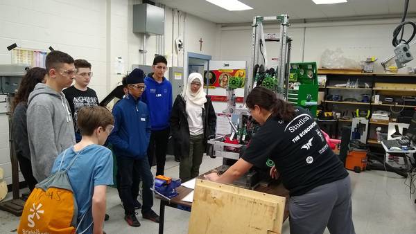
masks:
<svg viewBox="0 0 416 234"><path fill-rule="evenodd" d="M416 79L413 79L416 75L328 69L319 69L318 74L326 77L326 82L320 84L324 88L319 90L321 99L318 103L321 103L322 112L325 115L333 113L333 118L338 118L335 127L338 132L328 133L330 136L338 138L341 127L352 126L356 123L352 119L361 116L368 119L366 143L379 147L381 144L375 140L376 129L381 128L381 132L386 133L389 123L410 120L416 109ZM375 113L380 117L372 115ZM390 118L390 122L383 120L385 117Z"/></svg>

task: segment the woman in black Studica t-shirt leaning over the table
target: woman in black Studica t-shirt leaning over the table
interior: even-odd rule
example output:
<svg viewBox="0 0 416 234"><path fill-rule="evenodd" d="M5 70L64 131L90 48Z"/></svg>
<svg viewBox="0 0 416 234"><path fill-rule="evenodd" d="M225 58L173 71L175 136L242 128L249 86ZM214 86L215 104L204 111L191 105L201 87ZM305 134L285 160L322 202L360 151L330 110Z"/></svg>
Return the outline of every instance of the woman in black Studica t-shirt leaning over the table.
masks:
<svg viewBox="0 0 416 234"><path fill-rule="evenodd" d="M259 132L229 170L206 178L231 183L253 165L263 168L270 157L275 163L270 176L280 174L291 195L291 233L323 233L325 227L330 233L355 233L348 172L309 111L263 87L254 88L245 103L261 125Z"/></svg>

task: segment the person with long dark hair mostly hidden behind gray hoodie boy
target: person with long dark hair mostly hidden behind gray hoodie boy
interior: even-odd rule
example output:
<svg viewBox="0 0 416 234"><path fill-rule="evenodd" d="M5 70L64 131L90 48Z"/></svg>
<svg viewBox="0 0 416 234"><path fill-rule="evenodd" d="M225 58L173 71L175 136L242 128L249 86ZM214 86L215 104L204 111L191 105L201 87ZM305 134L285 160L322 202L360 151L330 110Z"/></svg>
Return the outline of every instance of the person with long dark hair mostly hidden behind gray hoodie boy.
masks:
<svg viewBox="0 0 416 234"><path fill-rule="evenodd" d="M13 136L15 138L15 150L19 161L21 174L32 191L37 183L33 177L31 150L28 143L28 128L26 123L26 111L28 109L29 93L35 89L35 85L44 82L46 69L34 67L21 79L19 89L13 100Z"/></svg>

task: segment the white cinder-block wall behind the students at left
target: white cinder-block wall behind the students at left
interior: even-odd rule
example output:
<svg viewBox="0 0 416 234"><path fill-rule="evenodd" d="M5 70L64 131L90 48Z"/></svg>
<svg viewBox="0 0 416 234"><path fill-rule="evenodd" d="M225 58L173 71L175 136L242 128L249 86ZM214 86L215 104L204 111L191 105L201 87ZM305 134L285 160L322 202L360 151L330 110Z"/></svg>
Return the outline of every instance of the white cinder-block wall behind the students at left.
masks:
<svg viewBox="0 0 416 234"><path fill-rule="evenodd" d="M103 99L123 75L117 75L114 67L116 57L123 57L125 72L132 64L153 62L158 51L157 36L147 37L146 62L139 53L143 48L143 35L132 33L132 6L137 0L0 0L0 64L10 64L11 55L6 47L17 43L24 48L55 50L69 53L74 59L83 58L92 63L94 77L90 87ZM216 24L196 16L185 14L179 17L177 11L166 8L164 51L168 66L183 66L183 55L175 48L172 39L178 29L185 30L185 50L213 55L216 49ZM174 19L175 18L175 19ZM181 20L179 20L179 18ZM174 21L174 25L172 24ZM181 26L179 26L179 23ZM174 33L172 35L172 28ZM198 40L204 44L199 50ZM167 74L166 74L167 75ZM11 182L10 155L8 146L8 122L0 115L0 167Z"/></svg>

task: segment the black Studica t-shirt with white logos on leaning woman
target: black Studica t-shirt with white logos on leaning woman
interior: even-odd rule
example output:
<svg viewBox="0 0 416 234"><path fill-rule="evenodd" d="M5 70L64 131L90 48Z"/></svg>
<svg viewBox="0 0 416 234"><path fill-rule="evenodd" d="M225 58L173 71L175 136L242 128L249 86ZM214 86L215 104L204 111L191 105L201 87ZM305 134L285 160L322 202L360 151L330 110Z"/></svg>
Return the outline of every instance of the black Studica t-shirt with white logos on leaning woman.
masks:
<svg viewBox="0 0 416 234"><path fill-rule="evenodd" d="M295 107L295 118L288 122L270 116L254 134L242 158L258 168L272 159L291 196L348 175L309 111L300 107Z"/></svg>

